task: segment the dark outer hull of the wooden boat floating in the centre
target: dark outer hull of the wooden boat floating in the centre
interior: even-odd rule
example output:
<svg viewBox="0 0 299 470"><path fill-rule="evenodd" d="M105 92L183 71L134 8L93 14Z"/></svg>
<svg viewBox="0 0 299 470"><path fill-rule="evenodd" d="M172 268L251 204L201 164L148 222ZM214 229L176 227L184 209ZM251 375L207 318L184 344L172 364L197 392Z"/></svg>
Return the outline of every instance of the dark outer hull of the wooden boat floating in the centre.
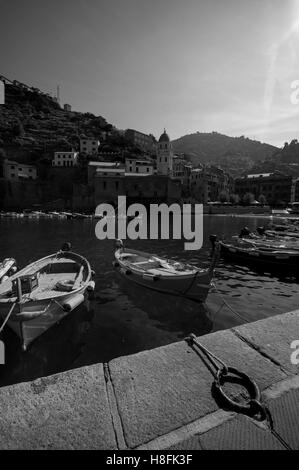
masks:
<svg viewBox="0 0 299 470"><path fill-rule="evenodd" d="M148 253L125 250L126 253L133 253L140 256L150 255ZM162 276L149 272L141 272L138 269L132 269L122 262L120 251L115 253L114 267L120 275L127 278L129 282L133 282L139 286L162 292L168 295L185 297L196 302L204 302L211 287L213 278L213 268L196 270L186 274L177 274L175 276Z"/></svg>

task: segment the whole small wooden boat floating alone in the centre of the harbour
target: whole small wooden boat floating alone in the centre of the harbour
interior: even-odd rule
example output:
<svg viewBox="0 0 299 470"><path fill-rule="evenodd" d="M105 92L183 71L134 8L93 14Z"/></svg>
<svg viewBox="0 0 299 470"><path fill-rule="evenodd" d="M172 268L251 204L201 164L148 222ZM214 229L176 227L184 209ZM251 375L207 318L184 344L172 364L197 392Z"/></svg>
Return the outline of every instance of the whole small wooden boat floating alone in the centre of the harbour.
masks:
<svg viewBox="0 0 299 470"><path fill-rule="evenodd" d="M213 278L216 256L211 266L192 265L164 259L142 251L123 247L117 242L114 267L129 281L165 294L204 302Z"/></svg>

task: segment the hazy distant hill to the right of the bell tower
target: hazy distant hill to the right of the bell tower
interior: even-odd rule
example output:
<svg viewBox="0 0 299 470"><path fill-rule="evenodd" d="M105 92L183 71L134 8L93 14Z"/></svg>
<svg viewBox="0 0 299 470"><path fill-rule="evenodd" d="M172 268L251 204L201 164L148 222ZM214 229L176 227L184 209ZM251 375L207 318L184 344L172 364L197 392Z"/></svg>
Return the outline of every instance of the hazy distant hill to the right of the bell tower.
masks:
<svg viewBox="0 0 299 470"><path fill-rule="evenodd" d="M238 162L243 169L244 164L246 168L250 168L255 162L264 160L277 151L277 147L273 145L244 136L229 137L218 132L197 132L180 137L172 143L175 152L185 153L195 164L223 163L225 168L232 166L232 169L237 170Z"/></svg>

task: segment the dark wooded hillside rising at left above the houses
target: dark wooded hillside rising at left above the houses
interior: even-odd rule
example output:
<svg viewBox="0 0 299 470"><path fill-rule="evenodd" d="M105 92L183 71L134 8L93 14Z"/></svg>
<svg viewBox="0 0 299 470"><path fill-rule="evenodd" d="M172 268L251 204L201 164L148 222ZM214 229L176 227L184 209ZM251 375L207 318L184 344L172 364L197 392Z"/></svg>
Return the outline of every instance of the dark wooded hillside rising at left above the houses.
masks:
<svg viewBox="0 0 299 470"><path fill-rule="evenodd" d="M101 116L66 112L49 95L6 85L0 106L1 153L19 161L51 159L53 151L78 148L79 135L99 135L110 126Z"/></svg>

